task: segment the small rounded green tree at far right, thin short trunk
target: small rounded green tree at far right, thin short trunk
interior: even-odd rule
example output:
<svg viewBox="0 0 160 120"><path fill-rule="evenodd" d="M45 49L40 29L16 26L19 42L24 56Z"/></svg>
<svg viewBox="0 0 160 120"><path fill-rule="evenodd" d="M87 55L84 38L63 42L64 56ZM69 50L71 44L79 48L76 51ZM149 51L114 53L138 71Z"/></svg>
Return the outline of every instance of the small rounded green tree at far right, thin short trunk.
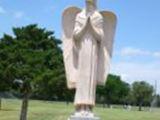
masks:
<svg viewBox="0 0 160 120"><path fill-rule="evenodd" d="M134 101L139 105L139 111L142 111L142 105L145 102L151 103L153 96L153 86L145 81L134 82L132 84L132 95Z"/></svg>

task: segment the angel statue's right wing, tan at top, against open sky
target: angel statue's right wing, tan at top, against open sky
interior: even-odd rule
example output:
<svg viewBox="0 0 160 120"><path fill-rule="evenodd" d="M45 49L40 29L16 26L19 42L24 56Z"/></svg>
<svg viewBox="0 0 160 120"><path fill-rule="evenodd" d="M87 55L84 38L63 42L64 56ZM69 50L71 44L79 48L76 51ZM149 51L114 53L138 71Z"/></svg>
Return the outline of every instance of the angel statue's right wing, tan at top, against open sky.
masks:
<svg viewBox="0 0 160 120"><path fill-rule="evenodd" d="M103 16L104 36L100 44L98 56L98 84L104 85L109 73L112 57L113 41L116 28L116 15L109 11L100 12Z"/></svg>

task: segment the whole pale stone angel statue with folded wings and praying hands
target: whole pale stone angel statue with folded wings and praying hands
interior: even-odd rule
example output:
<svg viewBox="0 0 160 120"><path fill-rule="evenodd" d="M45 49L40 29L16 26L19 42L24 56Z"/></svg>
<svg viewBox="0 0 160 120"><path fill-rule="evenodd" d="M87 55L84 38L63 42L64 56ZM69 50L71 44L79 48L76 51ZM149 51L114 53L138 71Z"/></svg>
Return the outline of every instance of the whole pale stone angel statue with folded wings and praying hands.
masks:
<svg viewBox="0 0 160 120"><path fill-rule="evenodd" d="M109 73L116 16L99 12L96 4L86 0L85 9L69 7L62 18L67 85L76 89L76 115L92 113L96 86L104 85Z"/></svg>

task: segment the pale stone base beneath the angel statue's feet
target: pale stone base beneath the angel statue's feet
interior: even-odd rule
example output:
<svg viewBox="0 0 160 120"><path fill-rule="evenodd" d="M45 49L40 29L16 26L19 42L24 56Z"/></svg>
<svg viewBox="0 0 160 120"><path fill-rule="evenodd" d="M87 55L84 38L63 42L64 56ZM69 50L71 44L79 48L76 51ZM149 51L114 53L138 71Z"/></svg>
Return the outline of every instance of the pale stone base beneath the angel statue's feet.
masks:
<svg viewBox="0 0 160 120"><path fill-rule="evenodd" d="M68 120L100 120L99 117L96 117L93 113L88 111L76 112Z"/></svg>

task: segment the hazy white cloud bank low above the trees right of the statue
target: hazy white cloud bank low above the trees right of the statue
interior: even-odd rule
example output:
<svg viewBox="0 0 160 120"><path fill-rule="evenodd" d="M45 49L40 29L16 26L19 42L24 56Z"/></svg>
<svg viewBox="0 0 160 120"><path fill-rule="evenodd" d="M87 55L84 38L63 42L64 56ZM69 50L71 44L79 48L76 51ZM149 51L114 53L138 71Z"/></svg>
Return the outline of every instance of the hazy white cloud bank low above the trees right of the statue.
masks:
<svg viewBox="0 0 160 120"><path fill-rule="evenodd" d="M147 81L155 85L158 82L158 92L160 93L160 61L150 63L119 62L112 64L111 73L122 76L126 82Z"/></svg>

